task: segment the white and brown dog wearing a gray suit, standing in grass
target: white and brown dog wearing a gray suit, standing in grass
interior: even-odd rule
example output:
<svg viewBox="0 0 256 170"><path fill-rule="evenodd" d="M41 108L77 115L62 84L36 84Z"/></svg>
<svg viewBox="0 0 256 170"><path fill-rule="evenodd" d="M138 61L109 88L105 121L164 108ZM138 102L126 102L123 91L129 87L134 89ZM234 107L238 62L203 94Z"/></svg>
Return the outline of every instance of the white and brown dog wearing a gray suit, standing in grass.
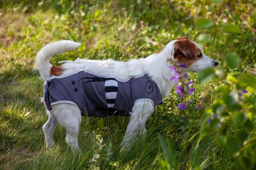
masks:
<svg viewBox="0 0 256 170"><path fill-rule="evenodd" d="M78 134L81 116L130 116L121 144L129 150L136 135L146 132L146 120L154 106L169 97L175 83L169 69L171 60L185 65L183 71L198 72L216 67L218 62L204 55L202 49L187 37L169 42L146 58L128 62L115 60L62 61L49 64L53 55L78 48L70 40L51 42L36 55L37 69L44 80L44 101L49 119L43 125L46 148L54 144L57 124L67 130L66 143L73 152L79 150Z"/></svg>

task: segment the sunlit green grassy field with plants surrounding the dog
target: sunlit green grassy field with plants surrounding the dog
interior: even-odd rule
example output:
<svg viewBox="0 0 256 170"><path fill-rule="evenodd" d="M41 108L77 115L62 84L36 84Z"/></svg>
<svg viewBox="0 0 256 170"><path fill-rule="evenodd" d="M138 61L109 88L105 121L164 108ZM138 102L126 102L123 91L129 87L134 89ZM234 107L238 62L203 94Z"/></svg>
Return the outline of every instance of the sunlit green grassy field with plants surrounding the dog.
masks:
<svg viewBox="0 0 256 170"><path fill-rule="evenodd" d="M255 18L254 0L0 0L0 169L256 169ZM130 152L120 152L129 117L119 116L83 117L81 152L68 148L61 126L45 148L43 81L34 70L40 48L82 43L54 56L55 66L76 57L127 61L181 36L220 66L189 73L193 95L174 88Z"/></svg>

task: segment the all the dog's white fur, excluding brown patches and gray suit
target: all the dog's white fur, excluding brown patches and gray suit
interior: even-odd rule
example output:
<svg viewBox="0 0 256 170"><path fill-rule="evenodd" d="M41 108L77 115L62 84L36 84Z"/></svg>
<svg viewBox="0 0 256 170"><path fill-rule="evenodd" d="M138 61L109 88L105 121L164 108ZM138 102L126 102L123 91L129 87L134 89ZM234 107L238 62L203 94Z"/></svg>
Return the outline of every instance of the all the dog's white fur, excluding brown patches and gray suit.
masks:
<svg viewBox="0 0 256 170"><path fill-rule="evenodd" d="M160 53L138 60L132 59L128 62L120 62L115 60L85 60L77 58L75 61L62 61L65 69L63 74L72 73L74 71L92 71L101 75L107 75L117 79L129 79L141 74L147 74L161 88L164 97L169 97L169 93L173 86L170 82L171 72L168 66L171 65L170 60L173 59L174 41L169 42ZM76 49L80 43L62 40L52 42L43 47L36 56L37 68L46 81L47 77L52 77L50 70L52 65L49 61L52 55L60 54L68 50ZM214 60L206 55L193 63L186 71L200 71L203 68L214 67ZM122 148L130 149L133 138L137 134L146 132L145 123L148 117L153 113L153 105L151 102L137 102L132 107L130 122L124 136ZM52 106L52 112L48 111L49 119L43 126L45 133L46 147L50 148L53 142L53 132L57 122L67 129L66 142L70 148L75 151L79 149L78 132L81 122L81 113L79 108L72 104L56 104Z"/></svg>

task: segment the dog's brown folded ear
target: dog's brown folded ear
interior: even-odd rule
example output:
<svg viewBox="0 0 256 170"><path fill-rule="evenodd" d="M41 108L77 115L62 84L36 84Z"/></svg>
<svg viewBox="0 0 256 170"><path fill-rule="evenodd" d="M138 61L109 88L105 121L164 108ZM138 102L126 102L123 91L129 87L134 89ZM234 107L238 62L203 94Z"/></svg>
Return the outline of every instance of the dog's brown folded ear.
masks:
<svg viewBox="0 0 256 170"><path fill-rule="evenodd" d="M174 53L174 58L178 58L178 57L186 57L188 59L193 59L194 57L194 46L195 44L193 44L189 38L187 37L181 37L178 38L177 41L174 44L174 48L175 48L175 53Z"/></svg>

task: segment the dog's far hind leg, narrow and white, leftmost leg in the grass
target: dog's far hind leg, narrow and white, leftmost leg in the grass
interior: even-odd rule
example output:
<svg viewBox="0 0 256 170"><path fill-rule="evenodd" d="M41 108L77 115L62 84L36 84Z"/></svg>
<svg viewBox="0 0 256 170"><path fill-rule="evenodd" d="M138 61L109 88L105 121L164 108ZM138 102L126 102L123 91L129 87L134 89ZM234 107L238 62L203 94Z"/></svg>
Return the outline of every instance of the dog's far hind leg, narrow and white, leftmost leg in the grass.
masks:
<svg viewBox="0 0 256 170"><path fill-rule="evenodd" d="M43 131L44 131L44 134L45 134L46 148L49 149L54 144L53 133L54 133L54 130L55 130L58 122L56 120L56 117L52 114L52 112L47 110L47 113L48 113L48 120L43 125Z"/></svg>

